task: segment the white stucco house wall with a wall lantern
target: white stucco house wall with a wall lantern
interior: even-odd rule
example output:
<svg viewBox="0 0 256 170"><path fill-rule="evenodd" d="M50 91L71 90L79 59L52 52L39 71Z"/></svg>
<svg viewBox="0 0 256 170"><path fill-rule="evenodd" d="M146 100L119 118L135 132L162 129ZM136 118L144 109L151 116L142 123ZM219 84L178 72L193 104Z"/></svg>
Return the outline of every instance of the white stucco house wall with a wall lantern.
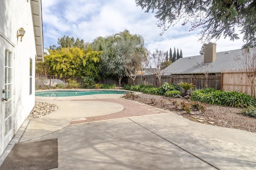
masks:
<svg viewBox="0 0 256 170"><path fill-rule="evenodd" d="M12 52L12 114L14 134L18 131L35 102L35 56L36 45L32 22L30 1L0 0L0 69L4 67L4 51ZM20 42L16 37L17 30L23 27L26 33ZM11 49L10 49L11 48ZM32 94L30 94L30 59L32 59ZM1 72L2 72L1 70ZM4 89L4 74L0 76L0 91ZM1 83L2 82L2 83ZM2 96L1 96L2 98ZM2 101L0 101L2 102ZM3 107L3 104L0 105ZM2 108L1 108L2 109ZM2 111L2 110L1 110ZM4 114L0 114L0 123L4 124ZM0 125L0 154L6 147L4 129Z"/></svg>

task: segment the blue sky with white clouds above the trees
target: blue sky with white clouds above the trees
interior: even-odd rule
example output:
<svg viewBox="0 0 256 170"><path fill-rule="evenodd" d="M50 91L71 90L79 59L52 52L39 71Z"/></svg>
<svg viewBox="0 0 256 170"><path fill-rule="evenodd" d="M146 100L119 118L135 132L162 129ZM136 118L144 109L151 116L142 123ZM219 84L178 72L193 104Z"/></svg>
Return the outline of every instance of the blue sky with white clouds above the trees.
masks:
<svg viewBox="0 0 256 170"><path fill-rule="evenodd" d="M42 0L44 48L56 45L64 35L92 42L96 37L113 35L128 29L131 34L142 35L145 47L151 52L174 52L182 49L183 57L199 55L202 42L197 31L188 31L190 25L171 26L162 36L153 13L145 13L135 0ZM239 33L239 32L238 32ZM241 49L244 42L221 37L212 39L216 51Z"/></svg>

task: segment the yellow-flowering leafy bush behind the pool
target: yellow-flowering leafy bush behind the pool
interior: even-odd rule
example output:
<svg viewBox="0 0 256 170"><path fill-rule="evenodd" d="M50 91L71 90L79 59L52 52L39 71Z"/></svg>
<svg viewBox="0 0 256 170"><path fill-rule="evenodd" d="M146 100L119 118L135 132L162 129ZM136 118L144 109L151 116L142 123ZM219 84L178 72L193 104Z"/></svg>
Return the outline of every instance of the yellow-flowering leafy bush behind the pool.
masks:
<svg viewBox="0 0 256 170"><path fill-rule="evenodd" d="M48 52L45 59L52 74L60 77L99 78L101 51L69 47L60 50L48 49Z"/></svg>

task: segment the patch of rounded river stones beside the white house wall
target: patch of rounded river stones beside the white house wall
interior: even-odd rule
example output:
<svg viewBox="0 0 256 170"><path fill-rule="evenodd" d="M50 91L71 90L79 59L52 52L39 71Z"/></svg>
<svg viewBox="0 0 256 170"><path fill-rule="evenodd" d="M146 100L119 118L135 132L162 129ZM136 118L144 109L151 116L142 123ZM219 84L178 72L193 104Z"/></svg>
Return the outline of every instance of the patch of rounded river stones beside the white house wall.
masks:
<svg viewBox="0 0 256 170"><path fill-rule="evenodd" d="M28 115L30 119L36 119L48 115L58 109L58 106L51 103L35 102L35 106Z"/></svg>

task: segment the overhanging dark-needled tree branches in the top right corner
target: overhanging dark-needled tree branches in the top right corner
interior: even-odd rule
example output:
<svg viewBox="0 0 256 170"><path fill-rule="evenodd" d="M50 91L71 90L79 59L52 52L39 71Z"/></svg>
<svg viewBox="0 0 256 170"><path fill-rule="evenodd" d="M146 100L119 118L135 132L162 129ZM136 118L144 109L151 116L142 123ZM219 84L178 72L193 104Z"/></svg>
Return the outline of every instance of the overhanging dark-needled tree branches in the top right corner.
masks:
<svg viewBox="0 0 256 170"><path fill-rule="evenodd" d="M235 28L244 35L245 47L256 46L255 0L135 0L145 12L154 12L162 35L171 25L182 21L191 24L190 30L199 30L200 40L230 37L239 39Z"/></svg>

